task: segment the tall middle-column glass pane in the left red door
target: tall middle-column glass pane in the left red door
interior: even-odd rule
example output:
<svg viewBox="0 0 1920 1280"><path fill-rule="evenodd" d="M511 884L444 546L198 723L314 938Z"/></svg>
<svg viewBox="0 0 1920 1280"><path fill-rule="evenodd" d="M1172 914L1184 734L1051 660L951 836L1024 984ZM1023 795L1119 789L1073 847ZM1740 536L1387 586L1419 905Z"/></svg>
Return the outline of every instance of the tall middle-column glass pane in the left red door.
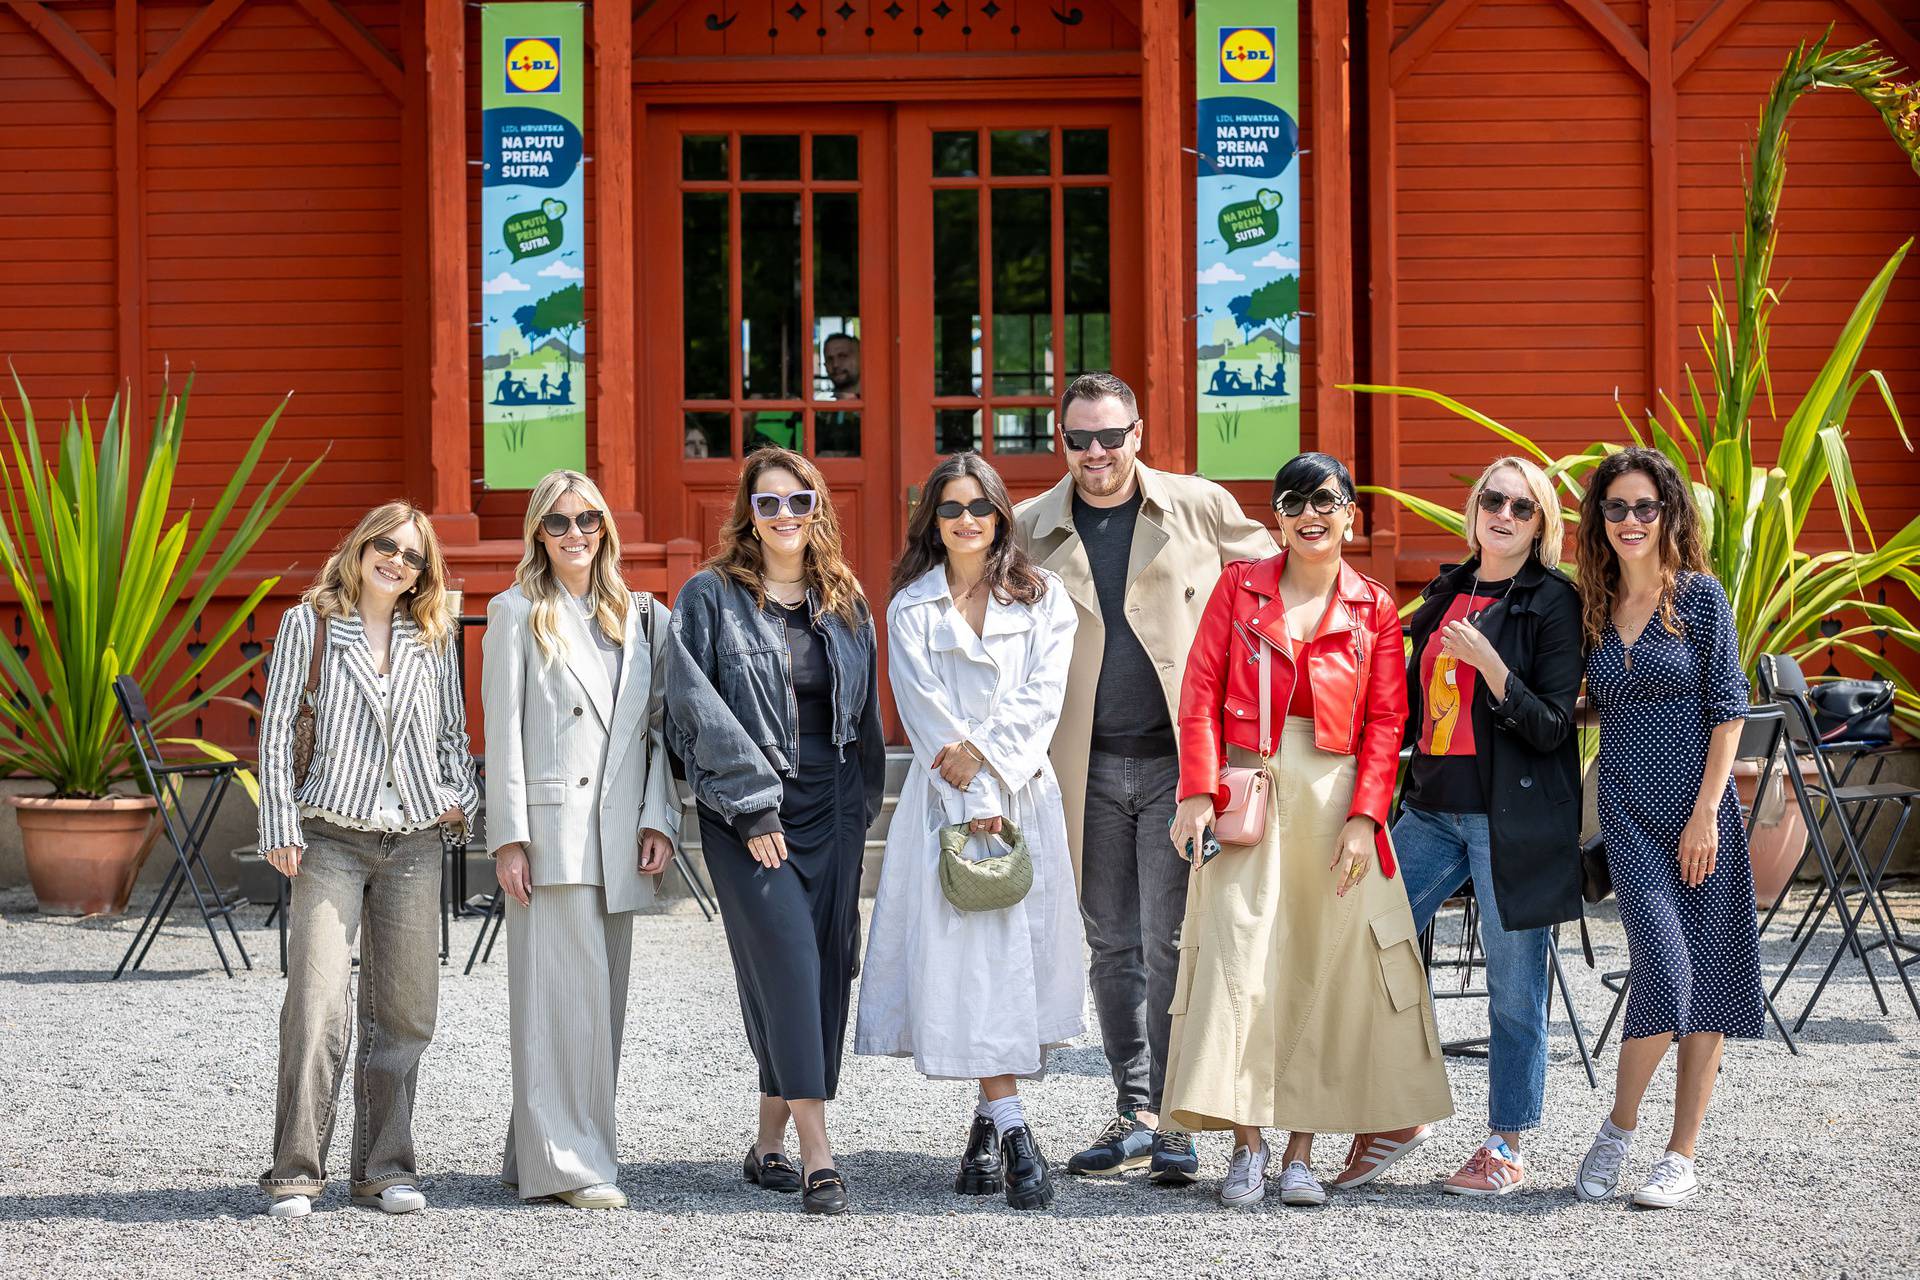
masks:
<svg viewBox="0 0 1920 1280"><path fill-rule="evenodd" d="M801 397L801 198L739 198L741 395Z"/></svg>

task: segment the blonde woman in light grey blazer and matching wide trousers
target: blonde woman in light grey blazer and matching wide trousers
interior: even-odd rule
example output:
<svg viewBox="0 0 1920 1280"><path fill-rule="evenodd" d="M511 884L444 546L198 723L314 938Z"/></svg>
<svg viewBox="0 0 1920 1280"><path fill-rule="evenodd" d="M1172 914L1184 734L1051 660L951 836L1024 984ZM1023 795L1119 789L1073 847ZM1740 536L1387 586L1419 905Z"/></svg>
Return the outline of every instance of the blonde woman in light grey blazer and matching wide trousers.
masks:
<svg viewBox="0 0 1920 1280"><path fill-rule="evenodd" d="M574 470L528 497L513 587L488 604L486 833L507 892L520 1199L620 1209L614 1086L634 912L674 856L664 752L666 610L620 576L607 499Z"/></svg>

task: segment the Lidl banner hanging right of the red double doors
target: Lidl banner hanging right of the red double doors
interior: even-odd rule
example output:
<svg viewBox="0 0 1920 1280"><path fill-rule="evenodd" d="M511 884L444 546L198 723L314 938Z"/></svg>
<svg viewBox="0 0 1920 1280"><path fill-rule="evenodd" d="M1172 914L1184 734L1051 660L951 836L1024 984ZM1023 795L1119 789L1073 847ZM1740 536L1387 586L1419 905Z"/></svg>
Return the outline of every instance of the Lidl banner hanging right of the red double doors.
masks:
<svg viewBox="0 0 1920 1280"><path fill-rule="evenodd" d="M1200 474L1300 449L1298 0L1198 0Z"/></svg>

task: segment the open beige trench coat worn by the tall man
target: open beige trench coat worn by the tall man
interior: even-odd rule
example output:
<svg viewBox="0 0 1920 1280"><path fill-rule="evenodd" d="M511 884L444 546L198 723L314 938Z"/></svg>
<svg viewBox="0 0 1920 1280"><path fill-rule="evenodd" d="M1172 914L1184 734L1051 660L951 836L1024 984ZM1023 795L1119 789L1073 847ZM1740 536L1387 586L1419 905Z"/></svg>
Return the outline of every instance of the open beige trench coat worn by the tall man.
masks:
<svg viewBox="0 0 1920 1280"><path fill-rule="evenodd" d="M1275 553L1275 545L1265 526L1248 520L1240 503L1212 480L1158 472L1144 462L1137 470L1140 520L1133 528L1133 557L1127 562L1127 622L1160 672L1167 720L1179 723L1187 649L1200 628L1208 591L1223 568L1235 560L1263 560ZM1014 528L1027 555L1060 576L1079 616L1066 708L1050 752L1060 796L1066 800L1068 844L1077 879L1087 818L1092 695L1100 685L1106 624L1092 589L1087 549L1073 528L1073 476L1064 476L1046 493L1016 507Z"/></svg>

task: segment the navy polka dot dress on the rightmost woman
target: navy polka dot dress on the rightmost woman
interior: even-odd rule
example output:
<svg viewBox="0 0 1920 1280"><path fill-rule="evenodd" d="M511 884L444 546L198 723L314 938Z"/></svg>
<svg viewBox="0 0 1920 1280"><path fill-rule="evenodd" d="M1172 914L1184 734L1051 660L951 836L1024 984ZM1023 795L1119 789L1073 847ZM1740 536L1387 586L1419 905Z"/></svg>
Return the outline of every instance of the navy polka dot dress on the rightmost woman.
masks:
<svg viewBox="0 0 1920 1280"><path fill-rule="evenodd" d="M1599 827L1632 971L1624 1036L1759 1038L1766 1011L1753 864L1732 781L1713 875L1693 889L1680 883L1680 833L1699 796L1707 741L1715 725L1745 718L1747 677L1713 576L1684 574L1674 612L1682 635L1655 614L1628 660L1609 622L1586 660L1588 697L1599 708Z"/></svg>

